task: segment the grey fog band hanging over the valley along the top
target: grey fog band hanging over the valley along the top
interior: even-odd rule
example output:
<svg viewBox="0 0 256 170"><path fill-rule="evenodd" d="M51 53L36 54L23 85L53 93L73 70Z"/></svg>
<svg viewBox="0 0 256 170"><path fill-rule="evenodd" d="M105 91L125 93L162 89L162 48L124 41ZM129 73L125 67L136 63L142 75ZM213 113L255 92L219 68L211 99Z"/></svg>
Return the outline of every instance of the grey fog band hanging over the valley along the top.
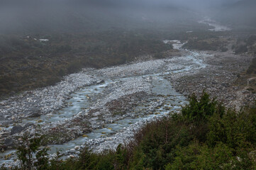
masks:
<svg viewBox="0 0 256 170"><path fill-rule="evenodd" d="M252 0L242 0L242 4L245 4L244 1ZM238 14L243 21L243 12L253 16L248 13L246 6L243 11L239 7L228 9L234 4L239 4L239 1L5 0L0 2L0 33L84 31L111 26L139 26L140 22L155 21L179 24L182 18L196 18L199 15L212 15L216 18L223 16L227 21L230 19L225 17L227 11L229 17Z"/></svg>

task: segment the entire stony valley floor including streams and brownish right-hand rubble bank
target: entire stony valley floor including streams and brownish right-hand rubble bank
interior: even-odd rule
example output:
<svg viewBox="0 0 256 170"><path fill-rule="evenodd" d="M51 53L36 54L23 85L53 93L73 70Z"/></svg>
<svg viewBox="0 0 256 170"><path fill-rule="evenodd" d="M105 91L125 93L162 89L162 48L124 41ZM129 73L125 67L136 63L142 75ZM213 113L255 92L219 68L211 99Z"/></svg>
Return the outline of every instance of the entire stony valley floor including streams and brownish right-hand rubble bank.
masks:
<svg viewBox="0 0 256 170"><path fill-rule="evenodd" d="M12 149L28 132L31 136L45 135L45 145L52 146L53 152L55 148L64 148L62 154L66 157L79 154L85 142L95 152L101 152L128 142L134 130L144 123L179 112L187 102L184 96L192 93L199 95L206 90L227 106L239 107L255 100L255 94L234 84L237 74L249 66L250 56L234 55L230 50L182 50L179 41L165 43L174 43L182 55L86 69L65 77L55 86L1 101L1 150ZM73 103L67 103L69 99ZM79 106L72 114L71 110L65 112L78 103L88 107ZM59 118L62 114L65 116ZM9 152L0 155L1 163L11 158Z"/></svg>

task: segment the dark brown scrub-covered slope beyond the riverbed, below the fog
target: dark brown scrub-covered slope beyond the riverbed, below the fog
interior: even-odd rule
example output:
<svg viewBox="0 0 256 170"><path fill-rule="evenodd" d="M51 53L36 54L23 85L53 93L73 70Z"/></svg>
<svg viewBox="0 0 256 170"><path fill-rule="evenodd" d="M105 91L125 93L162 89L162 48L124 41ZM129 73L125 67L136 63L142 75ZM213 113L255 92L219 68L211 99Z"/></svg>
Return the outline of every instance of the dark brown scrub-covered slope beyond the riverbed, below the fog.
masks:
<svg viewBox="0 0 256 170"><path fill-rule="evenodd" d="M147 30L0 37L0 94L53 85L83 67L124 64L172 50ZM39 39L49 41L40 41Z"/></svg>

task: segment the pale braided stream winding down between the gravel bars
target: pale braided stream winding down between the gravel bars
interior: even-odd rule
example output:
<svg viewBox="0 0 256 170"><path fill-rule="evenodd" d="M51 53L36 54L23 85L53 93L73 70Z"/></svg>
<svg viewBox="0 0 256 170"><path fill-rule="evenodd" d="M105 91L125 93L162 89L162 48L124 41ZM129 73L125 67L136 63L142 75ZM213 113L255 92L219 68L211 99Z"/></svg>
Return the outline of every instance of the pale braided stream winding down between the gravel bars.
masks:
<svg viewBox="0 0 256 170"><path fill-rule="evenodd" d="M181 50L180 47L182 47L183 45L179 41L165 40L164 42L174 43L174 48L179 50ZM135 126L135 128L140 128L141 125L143 125L144 123L156 120L157 118L161 118L171 113L178 113L179 111L181 111L182 106L185 106L188 103L186 97L182 96L182 94L177 93L177 91L172 88L171 82L169 82L166 77L176 74L184 74L187 72L191 72L191 70L199 70L206 67L206 64L204 64L203 60L201 60L201 58L199 57L201 54L199 54L198 52L192 52L188 50L184 51L188 52L189 55L183 56L183 62L177 64L177 69L168 69L164 67L162 68L162 72L156 72L152 74L144 74L133 77L115 77L111 79L106 79L106 77L102 77L102 79L104 79L104 83L84 86L82 89L79 89L78 91L72 93L69 96L69 99L65 101L65 106L59 111L54 111L53 113L49 113L47 115L41 115L39 118L26 118L21 122L21 125L26 125L27 123L47 125L48 123L62 122L64 120L67 120L68 118L72 118L72 116L77 115L84 110L89 109L94 103L94 101L91 100L91 96L101 94L104 89L108 87L109 84L114 84L119 81L128 81L129 79L133 79L136 77L148 79L148 81L150 81L150 84L152 85L152 96L146 99L147 103L138 104L138 106L135 106L132 111L130 111L133 112L135 116L128 116L113 123L107 123L104 128L94 129L88 134L77 137L76 139L66 142L62 145L50 145L49 153L55 153L56 149L61 149L62 152L65 152L77 146L84 146L85 143L94 142L95 145L95 141L98 141L96 143L97 147L108 141L106 145L102 145L101 149L114 149L116 145L118 145L118 141L115 142L115 140L117 139L115 135L120 133L121 135L123 135L123 138L121 138L121 140L129 140L132 136L127 135L129 134L127 130L131 131L134 128L134 125L140 123L139 126ZM152 101L157 101L159 99L159 96L164 96L161 106L157 106L153 109L153 111L148 112L147 109L150 103L152 103ZM12 126L7 129L11 128ZM113 143L115 145L113 145ZM91 146L94 147L94 145ZM4 159L6 155L13 154L13 152L15 152L15 150L7 150L4 153L0 153L0 164L6 162L13 162L13 159Z"/></svg>

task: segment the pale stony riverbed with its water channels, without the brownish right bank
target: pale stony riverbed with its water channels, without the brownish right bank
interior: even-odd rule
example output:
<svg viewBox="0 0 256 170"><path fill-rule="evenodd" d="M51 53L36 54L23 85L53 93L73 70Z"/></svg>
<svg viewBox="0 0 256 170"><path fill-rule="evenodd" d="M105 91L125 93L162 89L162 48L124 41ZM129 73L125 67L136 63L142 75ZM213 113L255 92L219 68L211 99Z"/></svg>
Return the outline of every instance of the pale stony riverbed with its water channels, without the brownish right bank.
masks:
<svg viewBox="0 0 256 170"><path fill-rule="evenodd" d="M164 42L171 43L174 49L182 51L182 56L105 69L87 69L70 75L72 81L70 77L66 77L65 81L55 86L28 91L2 101L1 110L11 110L13 115L10 115L11 121L7 119L5 126L1 128L1 135L15 143L19 142L24 132L39 132L44 135L51 133L52 129L58 129L63 137L59 141L52 141L49 145L50 154L54 155L56 149L61 149L65 157L76 157L79 149L85 146L91 147L95 152L115 149L118 144L132 139L134 130L145 123L179 113L182 106L187 104L187 98L172 88L172 82L167 77L183 77L199 72L207 67L204 63L206 54L182 50L183 44L178 40ZM82 83L76 82L77 85L70 88L69 85L76 81L75 77L79 77L78 80ZM60 88L69 91L67 93ZM60 94L56 92L52 96L50 90ZM35 96L38 94L46 96L46 101L42 99L41 102L47 102L51 109L45 111L45 107L40 108L40 115L31 118L28 116L31 113L26 115L24 107L38 108L35 104ZM61 99L52 100L55 97ZM18 103L18 100L24 98L26 101L22 101L22 105ZM50 101L47 101L48 98ZM11 108L6 107L10 105ZM24 114L22 118L15 116L18 111ZM87 128L84 128L83 123L88 124ZM26 125L28 127L24 128ZM8 134L17 126L24 129L10 137ZM13 162L15 157L10 153L14 151L7 149L1 153L1 163Z"/></svg>

